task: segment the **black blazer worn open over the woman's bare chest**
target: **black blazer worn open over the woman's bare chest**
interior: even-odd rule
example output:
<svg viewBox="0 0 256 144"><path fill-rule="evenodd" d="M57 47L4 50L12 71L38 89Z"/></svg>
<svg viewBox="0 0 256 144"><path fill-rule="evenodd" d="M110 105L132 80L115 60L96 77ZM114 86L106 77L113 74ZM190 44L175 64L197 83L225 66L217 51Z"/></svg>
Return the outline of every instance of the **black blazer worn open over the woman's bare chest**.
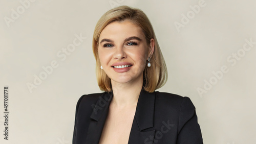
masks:
<svg viewBox="0 0 256 144"><path fill-rule="evenodd" d="M109 112L112 92L82 95L75 115L73 144L96 144ZM193 103L187 97L141 90L128 144L202 144Z"/></svg>

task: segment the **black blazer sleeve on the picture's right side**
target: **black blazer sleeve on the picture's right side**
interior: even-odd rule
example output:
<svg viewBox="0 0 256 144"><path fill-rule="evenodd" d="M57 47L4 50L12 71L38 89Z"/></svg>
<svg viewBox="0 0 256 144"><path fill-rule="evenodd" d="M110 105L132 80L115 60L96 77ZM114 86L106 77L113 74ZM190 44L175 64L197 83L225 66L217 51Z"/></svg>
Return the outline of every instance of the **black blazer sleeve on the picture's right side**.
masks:
<svg viewBox="0 0 256 144"><path fill-rule="evenodd" d="M184 97L180 107L177 143L203 143L202 133L197 121L196 108L187 97Z"/></svg>

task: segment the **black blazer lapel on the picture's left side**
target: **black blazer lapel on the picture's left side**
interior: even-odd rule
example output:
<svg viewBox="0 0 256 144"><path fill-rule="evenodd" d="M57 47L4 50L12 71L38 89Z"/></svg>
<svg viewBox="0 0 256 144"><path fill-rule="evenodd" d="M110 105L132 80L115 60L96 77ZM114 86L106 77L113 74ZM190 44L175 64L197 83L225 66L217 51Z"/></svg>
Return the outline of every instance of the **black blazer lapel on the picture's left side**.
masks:
<svg viewBox="0 0 256 144"><path fill-rule="evenodd" d="M96 105L92 105L93 112L91 114L91 121L88 128L86 142L88 144L98 144L101 132L104 127L106 117L109 113L110 102L113 98L113 93L103 93L100 95Z"/></svg>

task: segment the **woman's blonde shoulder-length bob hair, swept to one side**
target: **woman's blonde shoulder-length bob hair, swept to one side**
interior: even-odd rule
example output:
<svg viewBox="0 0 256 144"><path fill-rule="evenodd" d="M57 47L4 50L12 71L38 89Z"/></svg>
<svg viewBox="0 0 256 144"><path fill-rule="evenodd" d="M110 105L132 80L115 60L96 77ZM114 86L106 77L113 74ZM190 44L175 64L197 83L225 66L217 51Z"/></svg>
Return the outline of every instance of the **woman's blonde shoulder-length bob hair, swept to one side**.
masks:
<svg viewBox="0 0 256 144"><path fill-rule="evenodd" d="M101 31L114 21L129 20L136 26L140 27L146 43L150 45L151 39L155 40L155 50L151 58L151 67L145 66L143 71L143 88L148 92L154 92L162 87L167 81L167 68L155 36L155 32L150 20L140 9L128 6L120 6L109 10L101 16L96 24L93 34L93 54L96 59L96 77L100 90L107 92L112 91L111 80L103 69L100 68L100 60L98 55L98 41ZM145 64L146 65L146 64Z"/></svg>

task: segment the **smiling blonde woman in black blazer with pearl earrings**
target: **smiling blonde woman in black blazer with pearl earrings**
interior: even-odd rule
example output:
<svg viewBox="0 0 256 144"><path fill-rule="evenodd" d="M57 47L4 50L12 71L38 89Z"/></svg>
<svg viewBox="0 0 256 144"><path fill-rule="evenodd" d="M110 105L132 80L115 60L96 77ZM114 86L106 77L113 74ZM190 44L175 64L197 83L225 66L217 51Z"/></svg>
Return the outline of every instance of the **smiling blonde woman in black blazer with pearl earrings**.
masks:
<svg viewBox="0 0 256 144"><path fill-rule="evenodd" d="M139 9L106 12L93 35L98 85L76 107L73 143L203 143L187 97L158 92L166 65L152 25Z"/></svg>

